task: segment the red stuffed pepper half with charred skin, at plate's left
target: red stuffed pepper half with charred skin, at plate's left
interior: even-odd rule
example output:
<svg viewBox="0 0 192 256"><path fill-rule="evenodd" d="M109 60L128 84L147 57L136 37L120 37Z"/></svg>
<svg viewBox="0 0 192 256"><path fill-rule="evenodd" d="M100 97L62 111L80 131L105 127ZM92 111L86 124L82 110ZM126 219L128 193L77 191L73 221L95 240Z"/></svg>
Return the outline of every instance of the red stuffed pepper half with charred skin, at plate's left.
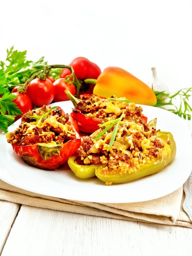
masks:
<svg viewBox="0 0 192 256"><path fill-rule="evenodd" d="M59 107L26 112L19 127L6 137L23 161L46 170L65 164L81 144L77 125Z"/></svg>

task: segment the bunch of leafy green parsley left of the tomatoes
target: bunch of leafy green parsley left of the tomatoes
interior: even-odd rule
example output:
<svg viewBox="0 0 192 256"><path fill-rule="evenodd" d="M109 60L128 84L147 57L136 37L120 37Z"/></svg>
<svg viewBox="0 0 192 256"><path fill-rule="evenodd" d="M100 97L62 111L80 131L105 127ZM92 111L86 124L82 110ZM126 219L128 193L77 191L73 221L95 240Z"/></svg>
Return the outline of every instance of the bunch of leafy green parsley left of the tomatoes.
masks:
<svg viewBox="0 0 192 256"><path fill-rule="evenodd" d="M16 106L14 99L16 96L11 90L22 83L25 83L31 73L40 68L44 68L47 62L44 57L38 61L27 61L27 51L19 52L13 46L7 49L7 57L0 61L0 129L7 132L7 128L14 122L16 115L21 111Z"/></svg>

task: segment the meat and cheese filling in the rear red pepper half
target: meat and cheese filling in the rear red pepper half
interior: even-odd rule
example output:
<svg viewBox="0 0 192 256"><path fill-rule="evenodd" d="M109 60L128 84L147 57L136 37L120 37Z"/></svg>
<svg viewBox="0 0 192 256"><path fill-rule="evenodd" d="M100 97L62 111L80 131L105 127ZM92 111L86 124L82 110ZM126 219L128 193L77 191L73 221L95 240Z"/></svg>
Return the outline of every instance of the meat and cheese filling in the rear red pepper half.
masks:
<svg viewBox="0 0 192 256"><path fill-rule="evenodd" d="M112 96L111 99L103 99L94 94L85 94L77 106L73 109L74 112L82 112L87 117L91 117L96 121L102 123L109 119L114 120L121 116L124 111L125 120L135 121L136 123L142 122L143 109L141 106L136 106L135 103L127 103L125 101L116 100ZM124 98L121 98L124 99Z"/></svg>

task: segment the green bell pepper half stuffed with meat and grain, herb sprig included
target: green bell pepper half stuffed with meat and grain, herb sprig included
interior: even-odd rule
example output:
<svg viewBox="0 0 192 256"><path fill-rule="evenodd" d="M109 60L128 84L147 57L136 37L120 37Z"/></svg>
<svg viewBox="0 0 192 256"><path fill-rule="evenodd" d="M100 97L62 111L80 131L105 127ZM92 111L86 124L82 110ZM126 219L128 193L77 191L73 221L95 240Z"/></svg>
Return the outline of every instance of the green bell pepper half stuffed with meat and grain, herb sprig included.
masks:
<svg viewBox="0 0 192 256"><path fill-rule="evenodd" d="M116 119L84 136L68 164L79 178L96 176L105 184L131 182L171 164L176 143L171 132L156 130L156 119L136 124Z"/></svg>

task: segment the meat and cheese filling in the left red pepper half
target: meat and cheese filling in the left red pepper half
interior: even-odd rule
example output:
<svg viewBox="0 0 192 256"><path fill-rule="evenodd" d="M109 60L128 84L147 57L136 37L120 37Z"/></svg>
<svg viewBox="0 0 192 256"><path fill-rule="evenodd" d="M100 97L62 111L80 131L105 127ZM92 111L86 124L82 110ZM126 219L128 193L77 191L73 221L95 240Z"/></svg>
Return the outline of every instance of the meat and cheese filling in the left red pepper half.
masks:
<svg viewBox="0 0 192 256"><path fill-rule="evenodd" d="M72 126L67 124L69 115L64 114L59 108L50 112L49 110L50 108L43 106L22 115L18 128L7 134L7 142L17 146L29 146L50 142L61 144L75 139Z"/></svg>

